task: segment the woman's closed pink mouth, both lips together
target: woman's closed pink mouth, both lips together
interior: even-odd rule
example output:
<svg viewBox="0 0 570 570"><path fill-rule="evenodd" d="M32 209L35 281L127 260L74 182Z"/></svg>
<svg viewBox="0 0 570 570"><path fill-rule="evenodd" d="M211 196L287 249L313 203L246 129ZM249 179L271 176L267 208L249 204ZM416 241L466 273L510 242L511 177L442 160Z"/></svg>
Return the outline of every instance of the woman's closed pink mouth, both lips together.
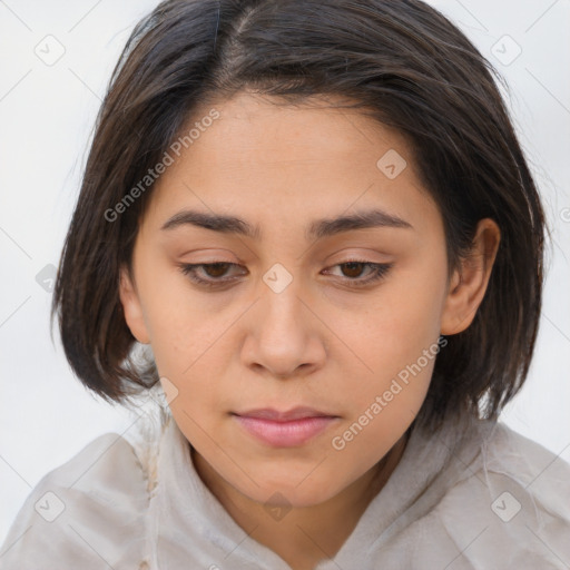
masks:
<svg viewBox="0 0 570 570"><path fill-rule="evenodd" d="M232 416L249 435L273 448L303 445L340 420L312 407L283 412L266 407L232 413Z"/></svg>

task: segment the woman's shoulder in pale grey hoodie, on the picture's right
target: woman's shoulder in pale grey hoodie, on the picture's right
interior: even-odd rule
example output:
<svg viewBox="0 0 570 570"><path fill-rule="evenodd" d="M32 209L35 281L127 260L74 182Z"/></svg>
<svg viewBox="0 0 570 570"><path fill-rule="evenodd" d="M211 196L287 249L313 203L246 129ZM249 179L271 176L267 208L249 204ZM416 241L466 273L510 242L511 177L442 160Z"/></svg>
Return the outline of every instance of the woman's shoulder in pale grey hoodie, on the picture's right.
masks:
<svg viewBox="0 0 570 570"><path fill-rule="evenodd" d="M461 454L453 458L461 474L432 522L469 568L568 568L570 465L502 423L473 445L474 461L461 465Z"/></svg>

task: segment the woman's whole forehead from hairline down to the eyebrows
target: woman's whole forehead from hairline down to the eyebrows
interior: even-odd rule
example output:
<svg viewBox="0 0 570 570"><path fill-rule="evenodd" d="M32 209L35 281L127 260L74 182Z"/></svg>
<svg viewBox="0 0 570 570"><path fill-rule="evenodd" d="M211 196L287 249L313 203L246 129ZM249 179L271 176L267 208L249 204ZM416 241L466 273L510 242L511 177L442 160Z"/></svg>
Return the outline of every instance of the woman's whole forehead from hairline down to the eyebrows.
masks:
<svg viewBox="0 0 570 570"><path fill-rule="evenodd" d="M153 190L157 224L196 206L257 226L366 207L424 222L439 215L397 131L331 98L276 102L240 94L193 114Z"/></svg>

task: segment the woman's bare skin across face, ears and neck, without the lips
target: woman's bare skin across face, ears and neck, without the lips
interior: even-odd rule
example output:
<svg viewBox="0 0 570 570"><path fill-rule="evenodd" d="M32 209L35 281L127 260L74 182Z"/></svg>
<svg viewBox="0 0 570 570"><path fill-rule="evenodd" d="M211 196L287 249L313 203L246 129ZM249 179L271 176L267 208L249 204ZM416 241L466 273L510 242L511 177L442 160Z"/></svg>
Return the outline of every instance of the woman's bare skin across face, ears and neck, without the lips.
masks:
<svg viewBox="0 0 570 570"><path fill-rule="evenodd" d="M132 272L120 282L130 331L150 343L165 389L176 386L169 405L199 476L253 539L296 570L334 557L397 465L434 361L343 450L332 439L440 334L470 325L500 239L497 225L481 220L472 256L450 275L443 220L404 138L331 102L279 107L247 92L219 101L219 119L157 181ZM407 163L394 179L376 166L390 149ZM317 218L372 207L412 227L305 237ZM262 237L160 229L183 209L232 214ZM372 274L340 265L354 258L393 265L380 281L350 287ZM208 289L179 267L213 262L237 266L203 268L203 278L236 281ZM263 281L275 263L293 278L279 293ZM230 415L296 405L338 417L301 446L274 448ZM291 510L276 520L268 502Z"/></svg>

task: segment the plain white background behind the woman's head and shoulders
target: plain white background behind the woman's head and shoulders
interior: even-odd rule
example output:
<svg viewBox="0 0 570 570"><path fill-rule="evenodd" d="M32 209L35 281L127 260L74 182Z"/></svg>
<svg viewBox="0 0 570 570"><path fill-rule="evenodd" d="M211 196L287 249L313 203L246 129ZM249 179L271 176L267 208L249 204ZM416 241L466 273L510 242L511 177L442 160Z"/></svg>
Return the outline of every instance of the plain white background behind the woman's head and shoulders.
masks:
<svg viewBox="0 0 570 570"><path fill-rule="evenodd" d="M71 374L57 332L50 340L50 293L36 276L58 265L107 81L134 24L156 3L0 0L0 542L42 475L131 423ZM503 420L570 460L570 2L431 3L507 78L552 228L537 353ZM35 53L46 41L57 52L48 35L65 48L52 66Z"/></svg>

